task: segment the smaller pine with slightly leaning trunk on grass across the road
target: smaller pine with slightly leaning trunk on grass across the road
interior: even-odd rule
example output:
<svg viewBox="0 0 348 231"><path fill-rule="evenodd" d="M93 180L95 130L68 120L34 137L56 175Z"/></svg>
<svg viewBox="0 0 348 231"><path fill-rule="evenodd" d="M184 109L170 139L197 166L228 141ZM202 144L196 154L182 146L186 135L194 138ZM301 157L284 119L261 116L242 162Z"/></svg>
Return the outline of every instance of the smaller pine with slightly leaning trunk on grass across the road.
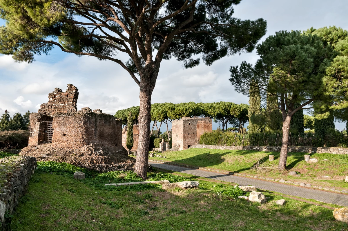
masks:
<svg viewBox="0 0 348 231"><path fill-rule="evenodd" d="M243 62L240 67L232 66L231 84L241 93L248 94L250 86L276 95L282 113L283 137L279 157L279 170L286 167L287 148L291 118L300 109L313 108L314 102L331 104L338 94L326 95L323 88L325 70L337 53L324 46L320 37L300 31L280 31L269 36L256 48L260 59L253 67ZM255 73L250 74L250 70ZM257 78L258 85L254 84ZM296 104L300 106L295 107Z"/></svg>

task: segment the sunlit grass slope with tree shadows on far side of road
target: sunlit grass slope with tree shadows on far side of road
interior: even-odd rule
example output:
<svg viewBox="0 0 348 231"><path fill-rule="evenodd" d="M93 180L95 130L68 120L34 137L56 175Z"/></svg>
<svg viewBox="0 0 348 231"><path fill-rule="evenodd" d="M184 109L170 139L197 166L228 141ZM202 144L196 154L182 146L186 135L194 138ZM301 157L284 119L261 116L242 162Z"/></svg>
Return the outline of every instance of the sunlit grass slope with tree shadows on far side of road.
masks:
<svg viewBox="0 0 348 231"><path fill-rule="evenodd" d="M296 171L301 177L288 176L288 171L256 171L250 169L259 159L264 161L260 166L277 167L279 154L279 152L249 150L187 149L161 154L166 157L165 159L156 157L149 159L210 169L221 169L253 176L272 177L292 182L304 182L323 187L348 189L348 183L343 181L345 177L348 176L348 155L314 153L311 154L311 158L316 158L319 162L308 164L304 161L304 154L306 153L289 152L287 157L287 170ZM268 155L274 155L275 161L269 162ZM323 161L324 159L327 159L327 161ZM321 180L320 177L326 175L331 176L332 180Z"/></svg>

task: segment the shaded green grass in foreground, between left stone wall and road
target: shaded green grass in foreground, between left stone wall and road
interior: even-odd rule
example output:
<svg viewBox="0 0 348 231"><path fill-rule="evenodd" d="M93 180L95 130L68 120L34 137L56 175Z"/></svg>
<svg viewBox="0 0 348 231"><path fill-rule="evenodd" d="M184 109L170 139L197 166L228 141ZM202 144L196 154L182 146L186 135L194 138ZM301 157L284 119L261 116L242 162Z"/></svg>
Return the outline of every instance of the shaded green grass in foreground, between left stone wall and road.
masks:
<svg viewBox="0 0 348 231"><path fill-rule="evenodd" d="M69 167L69 166L68 166ZM40 170L40 168L39 168ZM85 180L57 170L37 171L11 220L12 231L114 231L114 230L343 230L332 209L264 192L267 204L227 196L233 185L199 181L198 189L170 191L160 185L104 186L125 179L121 172L90 174ZM130 174L131 175L131 174ZM187 178L150 173L152 178ZM132 179L130 179L132 180ZM129 180L125 180L129 181Z"/></svg>

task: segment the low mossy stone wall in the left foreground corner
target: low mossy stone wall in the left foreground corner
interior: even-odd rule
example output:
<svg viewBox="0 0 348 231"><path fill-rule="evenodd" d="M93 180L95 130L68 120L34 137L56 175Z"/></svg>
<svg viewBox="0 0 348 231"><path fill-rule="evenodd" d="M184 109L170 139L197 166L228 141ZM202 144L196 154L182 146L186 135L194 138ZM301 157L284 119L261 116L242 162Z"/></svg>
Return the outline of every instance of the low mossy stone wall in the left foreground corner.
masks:
<svg viewBox="0 0 348 231"><path fill-rule="evenodd" d="M5 230L5 214L11 214L36 169L34 157L12 156L0 159L0 221Z"/></svg>

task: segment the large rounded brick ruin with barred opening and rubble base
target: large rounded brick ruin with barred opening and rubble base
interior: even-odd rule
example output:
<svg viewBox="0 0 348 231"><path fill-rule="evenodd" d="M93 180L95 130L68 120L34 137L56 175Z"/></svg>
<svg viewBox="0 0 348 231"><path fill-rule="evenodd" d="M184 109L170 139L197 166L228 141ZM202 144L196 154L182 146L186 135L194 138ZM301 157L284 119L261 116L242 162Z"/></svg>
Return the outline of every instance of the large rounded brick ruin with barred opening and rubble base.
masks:
<svg viewBox="0 0 348 231"><path fill-rule="evenodd" d="M29 145L21 155L38 161L67 162L97 171L134 169L135 160L122 146L122 124L100 109L77 110L78 89L55 88L30 114Z"/></svg>

